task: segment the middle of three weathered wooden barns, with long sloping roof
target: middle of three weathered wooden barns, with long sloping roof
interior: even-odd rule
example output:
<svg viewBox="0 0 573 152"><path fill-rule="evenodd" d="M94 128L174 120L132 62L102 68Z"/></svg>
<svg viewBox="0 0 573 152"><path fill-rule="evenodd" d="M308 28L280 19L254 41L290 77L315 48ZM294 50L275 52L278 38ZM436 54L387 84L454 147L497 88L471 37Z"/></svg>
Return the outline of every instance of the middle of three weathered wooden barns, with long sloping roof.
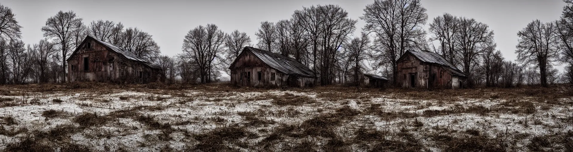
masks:
<svg viewBox="0 0 573 152"><path fill-rule="evenodd" d="M253 47L245 47L229 69L231 84L240 86L312 87L316 79L299 61Z"/></svg>

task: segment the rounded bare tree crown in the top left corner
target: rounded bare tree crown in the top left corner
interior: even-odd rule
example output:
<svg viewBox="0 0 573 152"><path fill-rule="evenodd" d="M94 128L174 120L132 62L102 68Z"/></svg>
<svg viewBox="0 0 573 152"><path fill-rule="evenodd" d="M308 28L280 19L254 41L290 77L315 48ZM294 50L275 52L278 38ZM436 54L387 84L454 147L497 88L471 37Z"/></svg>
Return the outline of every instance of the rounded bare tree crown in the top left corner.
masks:
<svg viewBox="0 0 573 152"><path fill-rule="evenodd" d="M0 36L10 39L21 38L22 32L18 21L16 21L15 14L9 7L0 5Z"/></svg>

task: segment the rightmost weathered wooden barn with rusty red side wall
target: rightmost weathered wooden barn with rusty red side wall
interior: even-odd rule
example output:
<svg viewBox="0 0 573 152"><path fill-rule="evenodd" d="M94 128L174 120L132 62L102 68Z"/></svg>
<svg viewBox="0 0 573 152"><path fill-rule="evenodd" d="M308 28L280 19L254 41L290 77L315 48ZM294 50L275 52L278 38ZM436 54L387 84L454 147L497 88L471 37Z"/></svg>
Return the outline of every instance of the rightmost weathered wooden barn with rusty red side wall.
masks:
<svg viewBox="0 0 573 152"><path fill-rule="evenodd" d="M406 51L398 60L397 83L403 88L461 88L468 75L429 51Z"/></svg>

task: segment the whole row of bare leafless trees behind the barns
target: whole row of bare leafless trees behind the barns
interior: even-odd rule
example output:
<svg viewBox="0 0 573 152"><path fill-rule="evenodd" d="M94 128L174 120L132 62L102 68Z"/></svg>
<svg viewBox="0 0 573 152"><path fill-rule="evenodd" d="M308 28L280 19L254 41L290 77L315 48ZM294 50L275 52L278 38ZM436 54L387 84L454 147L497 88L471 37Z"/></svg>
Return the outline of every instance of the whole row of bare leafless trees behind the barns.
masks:
<svg viewBox="0 0 573 152"><path fill-rule="evenodd" d="M21 42L21 26L8 7L0 7L0 83L65 82L65 59L85 35L116 44L162 67L163 81L219 81L245 46L293 57L316 73L321 85L358 85L363 73L388 77L395 84L398 59L407 50L433 51L469 75L470 87L547 86L573 82L573 0L564 0L559 20L533 20L517 31L515 61L497 49L494 31L470 17L445 13L429 21L421 0L375 0L359 18L358 29L337 5L293 11L291 18L260 23L256 44L246 32L223 32L215 24L197 26L183 38L176 56L160 54L152 35L121 22L84 24L73 11L58 12L41 30L45 39ZM425 30L427 27L427 30ZM359 35L354 35L361 30ZM32 61L32 62L30 62ZM555 68L566 64L564 72ZM59 67L59 68L58 68Z"/></svg>

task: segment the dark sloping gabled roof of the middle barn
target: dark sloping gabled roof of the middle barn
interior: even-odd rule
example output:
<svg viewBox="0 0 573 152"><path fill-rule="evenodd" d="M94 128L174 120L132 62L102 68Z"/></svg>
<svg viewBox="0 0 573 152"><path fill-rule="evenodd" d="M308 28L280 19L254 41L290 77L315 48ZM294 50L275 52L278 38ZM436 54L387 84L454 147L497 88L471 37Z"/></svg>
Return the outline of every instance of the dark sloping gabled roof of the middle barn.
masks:
<svg viewBox="0 0 573 152"><path fill-rule="evenodd" d="M254 47L245 47L241 55L244 54L245 51L252 52L254 56L260 59L263 63L268 65L270 68L274 68L282 73L289 74L289 75L299 75L305 77L315 77L315 73L312 72L307 66L301 64L299 61L296 61L292 57L284 56L281 54L277 54L274 52L261 50ZM241 56L239 55L239 56ZM238 59L238 57L237 57ZM235 60L236 62L237 60ZM231 67L235 64L231 64Z"/></svg>

